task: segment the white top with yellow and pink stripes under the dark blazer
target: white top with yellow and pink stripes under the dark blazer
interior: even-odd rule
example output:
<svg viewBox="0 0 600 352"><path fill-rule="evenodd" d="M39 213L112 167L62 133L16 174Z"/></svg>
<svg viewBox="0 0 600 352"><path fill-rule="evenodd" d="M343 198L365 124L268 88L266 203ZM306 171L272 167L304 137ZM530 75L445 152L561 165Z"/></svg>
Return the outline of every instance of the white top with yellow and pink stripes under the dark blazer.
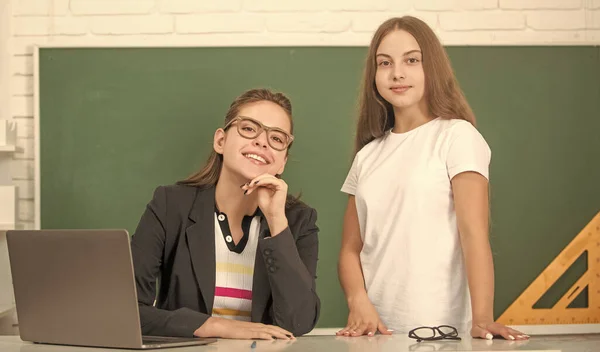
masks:
<svg viewBox="0 0 600 352"><path fill-rule="evenodd" d="M228 248L226 241L232 243L232 239L229 235L223 236L219 221L227 219L215 213L216 276L212 316L250 321L260 217L252 219L248 242L241 253Z"/></svg>

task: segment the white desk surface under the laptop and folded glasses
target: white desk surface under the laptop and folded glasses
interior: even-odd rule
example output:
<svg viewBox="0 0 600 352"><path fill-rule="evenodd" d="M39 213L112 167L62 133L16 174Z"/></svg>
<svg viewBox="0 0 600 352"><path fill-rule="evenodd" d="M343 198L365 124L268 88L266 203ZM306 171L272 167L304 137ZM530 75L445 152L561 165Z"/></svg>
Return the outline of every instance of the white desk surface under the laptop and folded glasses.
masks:
<svg viewBox="0 0 600 352"><path fill-rule="evenodd" d="M195 347L152 350L168 352L229 352L229 351L285 351L285 352L403 352L403 351L563 351L597 352L600 334L568 336L534 336L529 341L505 341L463 338L462 341L420 342L405 335L375 337L305 336L295 341L257 341L250 348L249 340L219 340L214 344ZM22 342L18 336L0 336L2 352L116 352L117 349L68 347ZM131 351L131 350L128 350Z"/></svg>

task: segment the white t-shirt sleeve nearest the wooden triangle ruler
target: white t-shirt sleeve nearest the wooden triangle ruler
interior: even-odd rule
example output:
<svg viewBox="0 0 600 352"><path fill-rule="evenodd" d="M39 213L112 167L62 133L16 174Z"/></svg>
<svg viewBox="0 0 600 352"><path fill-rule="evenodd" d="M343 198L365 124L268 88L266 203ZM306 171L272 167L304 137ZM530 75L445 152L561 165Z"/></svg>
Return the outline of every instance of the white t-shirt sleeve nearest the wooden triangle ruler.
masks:
<svg viewBox="0 0 600 352"><path fill-rule="evenodd" d="M453 126L448 142L446 169L450 179L462 172L474 171L489 180L492 152L473 125L465 121Z"/></svg>

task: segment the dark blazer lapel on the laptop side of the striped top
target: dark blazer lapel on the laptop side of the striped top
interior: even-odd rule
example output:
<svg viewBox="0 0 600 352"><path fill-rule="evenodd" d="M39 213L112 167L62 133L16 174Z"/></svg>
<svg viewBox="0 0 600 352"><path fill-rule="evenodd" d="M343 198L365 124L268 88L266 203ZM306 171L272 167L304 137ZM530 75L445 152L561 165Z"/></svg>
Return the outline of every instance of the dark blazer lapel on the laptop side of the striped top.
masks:
<svg viewBox="0 0 600 352"><path fill-rule="evenodd" d="M188 216L193 224L185 231L192 268L209 315L215 298L214 211L215 188L199 190Z"/></svg>

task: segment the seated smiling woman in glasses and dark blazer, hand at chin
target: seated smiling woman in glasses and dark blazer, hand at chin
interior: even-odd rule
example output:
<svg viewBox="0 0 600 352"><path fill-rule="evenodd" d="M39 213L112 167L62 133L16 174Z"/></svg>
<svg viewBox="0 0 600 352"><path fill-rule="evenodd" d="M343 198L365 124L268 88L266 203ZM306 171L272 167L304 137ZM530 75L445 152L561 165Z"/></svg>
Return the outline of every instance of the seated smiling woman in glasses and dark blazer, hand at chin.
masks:
<svg viewBox="0 0 600 352"><path fill-rule="evenodd" d="M319 229L281 179L292 133L289 99L249 90L206 165L155 190L131 242L144 335L293 339L313 329Z"/></svg>

